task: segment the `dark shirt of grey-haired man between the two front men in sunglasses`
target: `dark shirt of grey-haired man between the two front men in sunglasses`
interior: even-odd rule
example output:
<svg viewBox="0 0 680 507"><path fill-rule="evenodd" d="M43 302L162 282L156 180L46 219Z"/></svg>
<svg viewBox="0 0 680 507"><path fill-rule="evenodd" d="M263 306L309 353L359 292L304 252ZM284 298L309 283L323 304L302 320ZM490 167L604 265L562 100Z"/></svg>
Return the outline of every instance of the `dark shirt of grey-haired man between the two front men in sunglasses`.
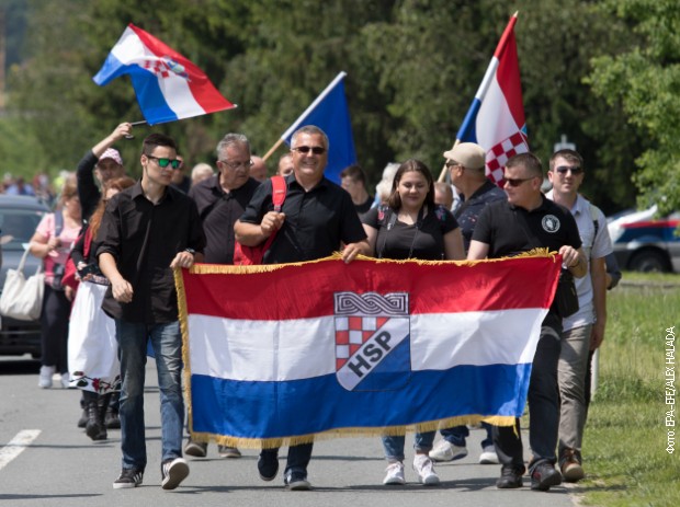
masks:
<svg viewBox="0 0 680 507"><path fill-rule="evenodd" d="M191 187L189 197L196 203L205 231L206 263L234 264L234 223L243 215L258 186L260 182L249 177L227 194L217 174Z"/></svg>

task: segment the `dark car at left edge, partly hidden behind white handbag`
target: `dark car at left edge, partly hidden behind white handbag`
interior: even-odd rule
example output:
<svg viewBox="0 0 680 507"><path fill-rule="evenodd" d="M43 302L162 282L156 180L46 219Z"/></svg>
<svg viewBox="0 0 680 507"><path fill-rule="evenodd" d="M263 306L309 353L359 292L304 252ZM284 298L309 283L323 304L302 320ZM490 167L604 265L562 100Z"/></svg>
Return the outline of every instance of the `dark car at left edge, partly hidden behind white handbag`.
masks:
<svg viewBox="0 0 680 507"><path fill-rule="evenodd" d="M0 291L4 287L8 269L16 269L29 241L43 216L49 208L39 199L29 196L0 195L0 231L2 231L2 268ZM29 254L24 266L26 277L42 264L39 258ZM0 316L0 355L19 356L31 354L41 357L39 321L18 321Z"/></svg>

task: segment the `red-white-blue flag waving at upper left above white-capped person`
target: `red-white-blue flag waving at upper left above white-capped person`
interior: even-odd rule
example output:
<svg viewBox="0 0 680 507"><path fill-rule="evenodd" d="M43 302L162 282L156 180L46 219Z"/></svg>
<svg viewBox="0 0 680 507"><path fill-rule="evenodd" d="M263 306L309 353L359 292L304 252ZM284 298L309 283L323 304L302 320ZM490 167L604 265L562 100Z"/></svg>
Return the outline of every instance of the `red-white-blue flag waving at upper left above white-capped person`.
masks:
<svg viewBox="0 0 680 507"><path fill-rule="evenodd" d="M92 79L103 87L123 74L129 74L149 125L236 107L199 67L132 23Z"/></svg>

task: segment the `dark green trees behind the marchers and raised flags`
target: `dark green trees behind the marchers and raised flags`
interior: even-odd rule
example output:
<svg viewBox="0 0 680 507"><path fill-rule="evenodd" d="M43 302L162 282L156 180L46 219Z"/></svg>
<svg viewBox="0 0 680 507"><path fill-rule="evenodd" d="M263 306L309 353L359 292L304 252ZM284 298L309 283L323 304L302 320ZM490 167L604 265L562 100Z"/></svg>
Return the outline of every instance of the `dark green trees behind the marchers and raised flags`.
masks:
<svg viewBox="0 0 680 507"><path fill-rule="evenodd" d="M517 3L532 150L546 160L566 134L588 161L586 193L604 209L632 204L642 136L625 111L583 81L592 58L637 42L626 20L593 1ZM174 136L190 164L214 162L227 131L246 134L263 154L344 70L370 180L407 158L438 173L513 8L496 0L30 0L27 33L36 36L11 72L13 118L39 139L43 164L70 168L120 122L141 119L127 78L105 88L91 81L133 22L199 65L238 104L152 127ZM138 137L146 132L137 129ZM138 155L138 141L121 148L127 160Z"/></svg>

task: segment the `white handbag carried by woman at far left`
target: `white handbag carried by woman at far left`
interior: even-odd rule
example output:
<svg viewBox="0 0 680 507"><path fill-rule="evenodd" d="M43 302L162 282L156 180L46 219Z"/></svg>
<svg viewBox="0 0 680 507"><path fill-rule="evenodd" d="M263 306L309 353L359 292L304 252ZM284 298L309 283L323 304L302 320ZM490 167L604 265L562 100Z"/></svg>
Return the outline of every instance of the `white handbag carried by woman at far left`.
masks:
<svg viewBox="0 0 680 507"><path fill-rule="evenodd" d="M35 275L24 277L24 264L29 250L24 252L16 269L8 269L4 278L2 296L0 296L0 314L19 321L35 321L39 319L45 293L45 274L43 264L37 267Z"/></svg>

